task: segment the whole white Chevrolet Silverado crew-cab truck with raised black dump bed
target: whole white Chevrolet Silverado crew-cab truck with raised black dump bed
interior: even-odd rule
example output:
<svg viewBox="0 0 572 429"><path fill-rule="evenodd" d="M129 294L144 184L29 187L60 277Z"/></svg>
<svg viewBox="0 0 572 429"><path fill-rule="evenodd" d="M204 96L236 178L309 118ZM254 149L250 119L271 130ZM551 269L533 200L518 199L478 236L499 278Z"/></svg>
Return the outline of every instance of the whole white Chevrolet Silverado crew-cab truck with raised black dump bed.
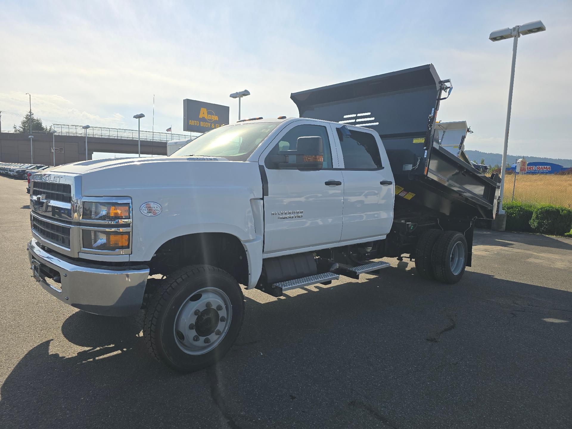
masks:
<svg viewBox="0 0 572 429"><path fill-rule="evenodd" d="M498 183L434 142L449 88L415 67L294 93L301 117L239 121L169 157L35 173L33 276L83 311L144 310L149 351L178 371L228 351L243 287L280 296L382 275L383 257L456 283Z"/></svg>

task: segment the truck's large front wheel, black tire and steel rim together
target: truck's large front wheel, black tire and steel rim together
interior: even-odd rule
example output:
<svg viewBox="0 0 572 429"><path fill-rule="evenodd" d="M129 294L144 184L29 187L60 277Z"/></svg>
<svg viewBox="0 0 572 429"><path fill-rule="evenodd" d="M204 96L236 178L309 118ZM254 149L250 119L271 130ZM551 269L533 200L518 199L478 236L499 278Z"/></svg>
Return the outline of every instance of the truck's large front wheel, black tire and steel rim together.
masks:
<svg viewBox="0 0 572 429"><path fill-rule="evenodd" d="M223 358L243 317L243 292L234 277L210 265L190 265L163 280L150 299L145 344L174 370L197 371Z"/></svg>

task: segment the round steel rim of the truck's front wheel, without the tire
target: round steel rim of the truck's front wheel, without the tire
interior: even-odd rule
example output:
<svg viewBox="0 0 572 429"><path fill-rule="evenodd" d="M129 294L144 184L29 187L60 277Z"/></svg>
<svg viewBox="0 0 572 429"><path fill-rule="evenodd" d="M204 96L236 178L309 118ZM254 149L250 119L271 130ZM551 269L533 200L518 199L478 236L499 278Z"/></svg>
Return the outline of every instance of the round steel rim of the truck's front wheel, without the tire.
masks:
<svg viewBox="0 0 572 429"><path fill-rule="evenodd" d="M213 287L199 289L178 309L173 327L177 345L189 355L202 355L219 345L231 320L226 293Z"/></svg>

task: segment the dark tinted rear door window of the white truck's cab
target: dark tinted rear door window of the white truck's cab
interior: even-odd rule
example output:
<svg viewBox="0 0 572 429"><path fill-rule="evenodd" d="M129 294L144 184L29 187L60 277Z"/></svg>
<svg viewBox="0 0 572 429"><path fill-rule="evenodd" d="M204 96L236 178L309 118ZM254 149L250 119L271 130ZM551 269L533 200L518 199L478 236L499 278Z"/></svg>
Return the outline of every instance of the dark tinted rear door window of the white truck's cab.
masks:
<svg viewBox="0 0 572 429"><path fill-rule="evenodd" d="M383 168L378 143L370 133L351 130L349 136L340 136L341 154L346 170L378 170Z"/></svg>

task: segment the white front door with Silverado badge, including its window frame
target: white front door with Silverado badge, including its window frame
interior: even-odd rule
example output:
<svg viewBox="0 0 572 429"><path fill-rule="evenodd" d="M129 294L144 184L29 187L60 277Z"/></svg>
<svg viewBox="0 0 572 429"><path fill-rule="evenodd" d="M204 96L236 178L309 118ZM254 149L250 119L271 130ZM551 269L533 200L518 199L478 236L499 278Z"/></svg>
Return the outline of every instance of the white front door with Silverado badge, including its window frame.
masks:
<svg viewBox="0 0 572 429"><path fill-rule="evenodd" d="M279 169L270 160L278 150L296 148L299 137L319 136L321 170ZM331 128L295 121L276 136L260 157L268 180L264 196L264 254L339 243L344 198L343 176Z"/></svg>

